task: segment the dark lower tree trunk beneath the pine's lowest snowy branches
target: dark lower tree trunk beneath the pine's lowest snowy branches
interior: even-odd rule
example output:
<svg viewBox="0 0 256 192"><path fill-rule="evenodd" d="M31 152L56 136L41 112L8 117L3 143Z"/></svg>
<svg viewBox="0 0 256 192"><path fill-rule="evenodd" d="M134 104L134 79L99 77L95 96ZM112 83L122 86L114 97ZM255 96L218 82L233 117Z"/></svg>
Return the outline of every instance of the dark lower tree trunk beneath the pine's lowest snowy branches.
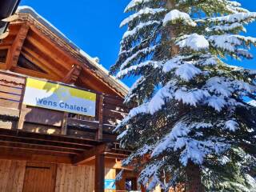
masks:
<svg viewBox="0 0 256 192"><path fill-rule="evenodd" d="M191 161L186 166L186 192L205 192L200 167Z"/></svg>

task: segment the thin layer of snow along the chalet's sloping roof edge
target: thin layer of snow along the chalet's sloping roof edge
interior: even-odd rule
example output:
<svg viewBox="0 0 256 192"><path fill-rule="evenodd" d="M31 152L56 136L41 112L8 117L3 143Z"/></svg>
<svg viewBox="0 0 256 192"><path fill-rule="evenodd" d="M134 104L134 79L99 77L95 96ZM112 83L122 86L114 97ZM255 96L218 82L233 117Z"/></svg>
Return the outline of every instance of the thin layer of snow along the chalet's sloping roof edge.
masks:
<svg viewBox="0 0 256 192"><path fill-rule="evenodd" d="M123 82L115 78L114 76L109 74L109 71L106 70L104 66L99 64L97 62L98 58L92 58L89 54L86 54L84 50L79 48L77 45L74 44L69 38L66 37L65 34L62 34L60 30L58 30L54 25L52 25L49 21L46 20L46 18L43 18L40 14L38 14L32 7L30 6L18 6L18 13L24 13L24 14L31 14L33 18L38 20L43 26L46 26L51 32L56 34L59 38L62 38L66 43L69 44L78 54L80 54L80 57L85 58L86 61L90 62L90 64L94 67L96 67L99 70L99 75L102 76L102 78L107 79L110 84L114 84L114 89L121 92L123 95L127 94L129 87L126 86Z"/></svg>

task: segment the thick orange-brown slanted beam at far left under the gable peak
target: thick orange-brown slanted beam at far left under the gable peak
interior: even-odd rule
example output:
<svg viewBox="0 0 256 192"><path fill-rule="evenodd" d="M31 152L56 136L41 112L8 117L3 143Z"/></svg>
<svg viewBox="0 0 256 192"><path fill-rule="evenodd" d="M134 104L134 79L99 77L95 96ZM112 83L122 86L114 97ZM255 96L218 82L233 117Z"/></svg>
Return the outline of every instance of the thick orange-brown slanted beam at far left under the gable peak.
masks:
<svg viewBox="0 0 256 192"><path fill-rule="evenodd" d="M30 26L23 24L18 31L18 34L14 39L13 45L10 47L10 54L8 55L8 59L6 62L6 70L10 70L13 66L17 66L18 57L21 53L23 43L29 30Z"/></svg>

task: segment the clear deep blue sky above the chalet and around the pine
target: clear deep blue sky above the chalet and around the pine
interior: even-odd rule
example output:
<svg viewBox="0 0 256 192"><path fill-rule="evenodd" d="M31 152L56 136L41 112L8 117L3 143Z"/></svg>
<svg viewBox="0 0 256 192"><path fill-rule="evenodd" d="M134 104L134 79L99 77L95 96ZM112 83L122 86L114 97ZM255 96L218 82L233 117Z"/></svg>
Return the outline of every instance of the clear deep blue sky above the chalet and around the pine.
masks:
<svg viewBox="0 0 256 192"><path fill-rule="evenodd" d="M67 38L85 50L92 57L100 58L106 69L114 64L118 57L119 42L125 28L119 24L127 14L123 10L130 0L22 0L21 5L31 6L56 26ZM244 7L256 12L254 0L238 0ZM247 35L256 37L256 22L250 25ZM253 60L229 63L256 69L256 49ZM125 81L128 86L132 81Z"/></svg>

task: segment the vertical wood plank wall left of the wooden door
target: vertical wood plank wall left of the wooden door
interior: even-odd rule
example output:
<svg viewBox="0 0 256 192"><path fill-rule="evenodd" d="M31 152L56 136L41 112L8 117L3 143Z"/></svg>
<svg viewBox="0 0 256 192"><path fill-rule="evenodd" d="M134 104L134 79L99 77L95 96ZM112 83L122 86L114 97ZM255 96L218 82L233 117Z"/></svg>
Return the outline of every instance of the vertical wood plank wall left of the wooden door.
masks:
<svg viewBox="0 0 256 192"><path fill-rule="evenodd" d="M25 161L0 160L0 191L22 192Z"/></svg>

